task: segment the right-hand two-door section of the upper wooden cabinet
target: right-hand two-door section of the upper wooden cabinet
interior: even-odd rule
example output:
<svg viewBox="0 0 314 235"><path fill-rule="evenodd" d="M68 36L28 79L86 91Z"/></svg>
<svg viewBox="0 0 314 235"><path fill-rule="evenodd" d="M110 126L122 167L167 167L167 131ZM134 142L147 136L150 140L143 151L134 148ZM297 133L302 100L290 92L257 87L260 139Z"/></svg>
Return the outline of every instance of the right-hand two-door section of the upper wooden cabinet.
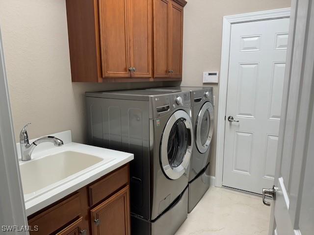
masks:
<svg viewBox="0 0 314 235"><path fill-rule="evenodd" d="M174 0L154 0L153 11L154 77L181 79L183 6Z"/></svg>

